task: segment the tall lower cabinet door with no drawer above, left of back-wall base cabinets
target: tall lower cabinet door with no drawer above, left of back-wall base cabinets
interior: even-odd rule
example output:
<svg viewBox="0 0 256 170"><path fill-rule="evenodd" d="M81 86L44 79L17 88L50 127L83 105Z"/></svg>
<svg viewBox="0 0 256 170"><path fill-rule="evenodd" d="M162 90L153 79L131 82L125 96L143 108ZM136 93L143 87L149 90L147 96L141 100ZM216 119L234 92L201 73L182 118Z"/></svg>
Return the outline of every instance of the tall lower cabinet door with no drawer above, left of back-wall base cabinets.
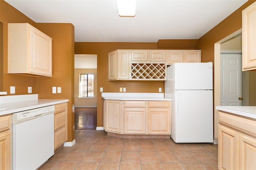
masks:
<svg viewBox="0 0 256 170"><path fill-rule="evenodd" d="M106 100L106 125L108 132L121 133L122 113L120 100Z"/></svg>

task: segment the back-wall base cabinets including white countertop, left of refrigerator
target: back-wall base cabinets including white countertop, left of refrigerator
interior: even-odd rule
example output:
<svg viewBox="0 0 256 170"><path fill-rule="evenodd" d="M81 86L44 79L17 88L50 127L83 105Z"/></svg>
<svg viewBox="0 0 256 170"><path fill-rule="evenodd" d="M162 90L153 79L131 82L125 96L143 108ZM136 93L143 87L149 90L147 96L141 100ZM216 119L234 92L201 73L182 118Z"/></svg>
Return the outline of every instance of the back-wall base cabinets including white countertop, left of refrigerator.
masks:
<svg viewBox="0 0 256 170"><path fill-rule="evenodd" d="M114 137L170 138L170 107L163 93L102 93L102 126Z"/></svg>

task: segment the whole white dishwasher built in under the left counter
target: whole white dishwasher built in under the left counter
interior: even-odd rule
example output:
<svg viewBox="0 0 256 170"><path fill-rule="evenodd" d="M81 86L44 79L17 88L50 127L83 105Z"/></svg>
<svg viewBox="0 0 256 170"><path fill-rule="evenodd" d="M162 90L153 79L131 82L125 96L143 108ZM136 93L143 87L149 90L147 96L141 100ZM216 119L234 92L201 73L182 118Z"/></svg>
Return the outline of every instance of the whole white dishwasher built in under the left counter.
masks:
<svg viewBox="0 0 256 170"><path fill-rule="evenodd" d="M54 154L54 106L12 114L12 169L35 170Z"/></svg>

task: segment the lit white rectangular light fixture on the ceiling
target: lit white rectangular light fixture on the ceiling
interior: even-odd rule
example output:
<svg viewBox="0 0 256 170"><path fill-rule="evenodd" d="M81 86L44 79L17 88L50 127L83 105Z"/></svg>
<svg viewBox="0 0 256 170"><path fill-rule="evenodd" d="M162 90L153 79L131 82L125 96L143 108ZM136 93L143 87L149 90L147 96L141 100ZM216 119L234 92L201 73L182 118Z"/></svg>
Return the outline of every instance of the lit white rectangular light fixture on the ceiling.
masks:
<svg viewBox="0 0 256 170"><path fill-rule="evenodd" d="M116 0L120 17L134 17L136 12L136 0Z"/></svg>

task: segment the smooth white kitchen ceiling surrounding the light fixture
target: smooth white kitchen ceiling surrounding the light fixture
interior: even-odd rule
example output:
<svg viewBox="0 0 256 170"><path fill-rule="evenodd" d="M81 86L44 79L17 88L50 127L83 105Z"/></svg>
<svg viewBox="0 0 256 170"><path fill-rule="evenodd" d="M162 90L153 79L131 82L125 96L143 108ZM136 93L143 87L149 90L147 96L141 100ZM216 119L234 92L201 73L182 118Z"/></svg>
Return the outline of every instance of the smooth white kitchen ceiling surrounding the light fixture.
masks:
<svg viewBox="0 0 256 170"><path fill-rule="evenodd" d="M116 0L5 1L37 23L72 23L75 42L198 39L247 2L137 0L136 16L120 17Z"/></svg>

